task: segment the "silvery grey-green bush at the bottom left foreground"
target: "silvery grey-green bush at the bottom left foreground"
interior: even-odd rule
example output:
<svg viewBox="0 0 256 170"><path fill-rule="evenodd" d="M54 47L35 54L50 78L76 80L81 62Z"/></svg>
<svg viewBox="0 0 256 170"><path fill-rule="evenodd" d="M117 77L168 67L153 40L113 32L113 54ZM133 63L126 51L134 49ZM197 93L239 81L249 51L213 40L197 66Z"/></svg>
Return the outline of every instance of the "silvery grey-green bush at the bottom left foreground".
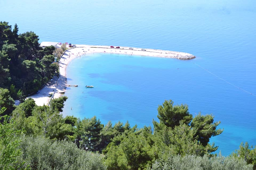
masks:
<svg viewBox="0 0 256 170"><path fill-rule="evenodd" d="M22 159L31 169L103 170L102 156L78 149L74 143L44 137L22 137Z"/></svg>

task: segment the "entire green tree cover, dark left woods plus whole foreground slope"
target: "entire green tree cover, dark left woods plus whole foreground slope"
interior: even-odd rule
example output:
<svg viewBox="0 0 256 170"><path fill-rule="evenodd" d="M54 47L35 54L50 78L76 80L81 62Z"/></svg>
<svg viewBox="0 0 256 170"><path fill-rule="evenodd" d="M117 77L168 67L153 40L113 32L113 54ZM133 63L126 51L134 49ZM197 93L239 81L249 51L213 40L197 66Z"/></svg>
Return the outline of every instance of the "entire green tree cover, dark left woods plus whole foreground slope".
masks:
<svg viewBox="0 0 256 170"><path fill-rule="evenodd" d="M59 52L38 40L0 22L0 169L256 169L256 149L248 143L227 157L213 154L218 146L209 141L223 132L220 122L212 114L193 117L186 104L166 100L156 106L153 127L137 128L63 117L66 96L49 106L25 100L58 73Z"/></svg>

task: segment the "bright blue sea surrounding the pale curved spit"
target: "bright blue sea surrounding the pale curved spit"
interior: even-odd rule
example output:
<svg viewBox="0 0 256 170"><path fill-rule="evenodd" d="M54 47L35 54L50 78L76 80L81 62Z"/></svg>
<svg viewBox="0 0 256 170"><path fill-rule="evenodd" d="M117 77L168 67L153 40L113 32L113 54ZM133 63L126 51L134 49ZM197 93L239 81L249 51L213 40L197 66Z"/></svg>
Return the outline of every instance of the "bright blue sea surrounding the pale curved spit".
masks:
<svg viewBox="0 0 256 170"><path fill-rule="evenodd" d="M91 54L67 67L63 115L152 125L164 100L213 114L223 155L256 145L255 0L0 1L1 21L39 42L118 45L191 53L194 60ZM95 88L86 89L86 85ZM72 111L71 108L72 107Z"/></svg>

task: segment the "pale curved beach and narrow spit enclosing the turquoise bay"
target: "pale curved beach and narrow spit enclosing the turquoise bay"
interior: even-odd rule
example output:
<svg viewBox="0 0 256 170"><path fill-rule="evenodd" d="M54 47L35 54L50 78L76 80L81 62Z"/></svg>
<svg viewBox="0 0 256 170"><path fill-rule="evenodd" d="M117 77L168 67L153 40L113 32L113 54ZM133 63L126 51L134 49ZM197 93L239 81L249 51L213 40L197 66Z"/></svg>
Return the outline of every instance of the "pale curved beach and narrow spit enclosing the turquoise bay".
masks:
<svg viewBox="0 0 256 170"><path fill-rule="evenodd" d="M59 46L59 45L58 45ZM92 53L115 53L125 55L136 55L136 56L151 56L151 57L165 57L165 58L177 58L180 60L190 60L195 58L192 54L184 52L175 52L168 50L157 50L157 49L145 49L121 47L110 48L110 46L100 45L76 45L76 47L67 49L59 60L59 81L57 83L57 77L54 78L43 87L38 94L31 95L29 97L35 100L35 103L39 106L47 105L51 99L48 97L49 94L53 94L52 98L56 99L61 95L65 94L67 87L66 68L67 65L77 57L85 56L86 54Z"/></svg>

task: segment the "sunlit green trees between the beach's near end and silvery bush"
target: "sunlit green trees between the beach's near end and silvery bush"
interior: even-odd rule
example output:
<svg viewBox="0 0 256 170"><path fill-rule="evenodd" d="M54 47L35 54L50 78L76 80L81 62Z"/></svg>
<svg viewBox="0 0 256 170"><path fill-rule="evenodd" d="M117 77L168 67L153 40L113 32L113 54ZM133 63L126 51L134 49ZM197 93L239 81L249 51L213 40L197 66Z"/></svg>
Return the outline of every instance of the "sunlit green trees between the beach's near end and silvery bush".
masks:
<svg viewBox="0 0 256 170"><path fill-rule="evenodd" d="M77 119L66 122L59 110L64 106L66 96L54 99L51 106L37 106L31 98L21 103L12 113L12 120L17 122L15 128L25 129L27 135L43 135L50 139L74 140L74 126Z"/></svg>

